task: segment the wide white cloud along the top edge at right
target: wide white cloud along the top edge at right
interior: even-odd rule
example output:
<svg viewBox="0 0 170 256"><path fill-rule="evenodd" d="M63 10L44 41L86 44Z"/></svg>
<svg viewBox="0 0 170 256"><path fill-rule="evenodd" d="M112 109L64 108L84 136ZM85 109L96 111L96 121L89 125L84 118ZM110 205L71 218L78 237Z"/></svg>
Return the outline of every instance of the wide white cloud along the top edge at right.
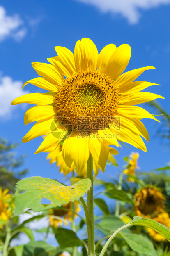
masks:
<svg viewBox="0 0 170 256"><path fill-rule="evenodd" d="M168 4L170 0L76 0L86 4L94 5L101 12L112 12L121 14L128 19L130 24L136 24L141 16L140 10L158 7Z"/></svg>

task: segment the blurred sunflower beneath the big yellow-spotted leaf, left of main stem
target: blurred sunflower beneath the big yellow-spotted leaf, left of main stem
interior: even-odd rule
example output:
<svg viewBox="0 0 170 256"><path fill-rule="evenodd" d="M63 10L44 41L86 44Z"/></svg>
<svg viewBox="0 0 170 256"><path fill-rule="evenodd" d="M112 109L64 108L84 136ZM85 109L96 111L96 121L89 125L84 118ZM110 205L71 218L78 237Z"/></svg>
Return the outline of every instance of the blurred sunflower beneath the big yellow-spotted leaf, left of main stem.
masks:
<svg viewBox="0 0 170 256"><path fill-rule="evenodd" d="M74 211L75 213L78 213L80 211L80 206L77 202L74 202ZM64 218L64 220L71 222L72 221L72 216L73 216L73 203L69 202L68 204L64 204L63 208L65 209L51 209L49 210L51 217L49 218L49 223L51 226L54 228L57 228L58 226L61 226L63 224L63 221L60 219L55 218L60 217ZM76 218L76 216L74 217Z"/></svg>

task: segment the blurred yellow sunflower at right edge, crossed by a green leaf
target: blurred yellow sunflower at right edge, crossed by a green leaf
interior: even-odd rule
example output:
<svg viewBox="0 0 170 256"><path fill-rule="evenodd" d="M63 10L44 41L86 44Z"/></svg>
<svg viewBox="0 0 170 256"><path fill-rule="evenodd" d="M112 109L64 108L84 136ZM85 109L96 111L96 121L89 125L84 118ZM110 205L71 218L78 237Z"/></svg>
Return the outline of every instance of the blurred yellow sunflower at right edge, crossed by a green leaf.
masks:
<svg viewBox="0 0 170 256"><path fill-rule="evenodd" d="M158 214L158 216L153 218L152 220L155 220L155 221L165 225L166 227L170 228L170 216L165 211L161 214ZM155 241L157 241L157 242L167 241L167 239L165 237L163 237L156 231L152 230L151 228L147 228L147 231L149 232L149 236L152 237Z"/></svg>

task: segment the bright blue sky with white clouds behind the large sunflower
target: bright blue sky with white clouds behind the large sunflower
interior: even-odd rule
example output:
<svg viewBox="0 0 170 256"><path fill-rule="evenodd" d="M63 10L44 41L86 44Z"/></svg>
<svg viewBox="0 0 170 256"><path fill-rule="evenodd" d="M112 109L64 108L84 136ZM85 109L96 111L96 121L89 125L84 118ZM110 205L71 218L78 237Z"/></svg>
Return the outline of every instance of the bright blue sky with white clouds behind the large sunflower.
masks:
<svg viewBox="0 0 170 256"><path fill-rule="evenodd" d="M98 51L110 43L117 47L131 45L132 55L126 71L152 65L156 69L145 71L139 80L162 84L147 91L165 97L158 100L170 112L170 0L64 0L64 1L10 1L0 3L0 135L11 142L19 142L17 154L27 154L25 168L28 176L39 175L62 180L55 164L49 165L46 153L34 155L42 138L22 143L32 124L24 125L28 104L11 106L11 101L28 92L44 92L34 85L21 87L25 81L37 77L31 62L46 62L56 55L54 47L64 46L74 51L77 40L88 37ZM151 110L147 105L145 109ZM123 146L116 157L122 158L132 151L139 152L138 165L149 171L164 166L169 159L166 141L155 137L160 123L143 120L148 132L147 153L129 145ZM117 175L115 167L107 166L106 175Z"/></svg>

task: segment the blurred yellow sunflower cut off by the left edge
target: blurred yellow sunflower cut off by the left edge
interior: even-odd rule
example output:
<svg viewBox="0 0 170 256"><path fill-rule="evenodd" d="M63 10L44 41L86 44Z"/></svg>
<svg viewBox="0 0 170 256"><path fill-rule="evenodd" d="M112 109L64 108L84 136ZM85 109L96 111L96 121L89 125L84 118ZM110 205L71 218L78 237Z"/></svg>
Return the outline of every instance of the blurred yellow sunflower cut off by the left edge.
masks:
<svg viewBox="0 0 170 256"><path fill-rule="evenodd" d="M8 209L8 201L11 198L11 194L7 194L8 191L6 189L2 192L2 188L0 187L0 219L3 221L7 221L12 215L11 210Z"/></svg>

